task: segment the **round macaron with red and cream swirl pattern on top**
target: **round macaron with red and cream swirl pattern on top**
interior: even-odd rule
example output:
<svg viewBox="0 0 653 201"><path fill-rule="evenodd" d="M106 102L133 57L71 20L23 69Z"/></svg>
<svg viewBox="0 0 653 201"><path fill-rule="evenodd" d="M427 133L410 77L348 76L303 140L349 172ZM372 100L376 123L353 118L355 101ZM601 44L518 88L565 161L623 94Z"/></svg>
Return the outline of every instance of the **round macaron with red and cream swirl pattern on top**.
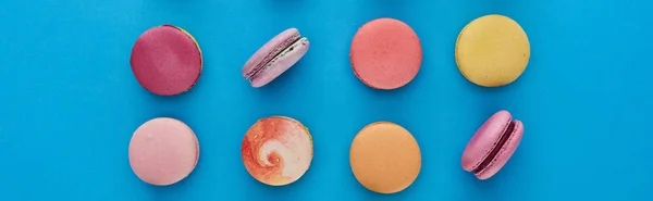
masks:
<svg viewBox="0 0 653 201"><path fill-rule="evenodd" d="M288 185L299 179L313 156L308 129L285 116L259 120L245 134L241 150L247 172L270 186Z"/></svg>

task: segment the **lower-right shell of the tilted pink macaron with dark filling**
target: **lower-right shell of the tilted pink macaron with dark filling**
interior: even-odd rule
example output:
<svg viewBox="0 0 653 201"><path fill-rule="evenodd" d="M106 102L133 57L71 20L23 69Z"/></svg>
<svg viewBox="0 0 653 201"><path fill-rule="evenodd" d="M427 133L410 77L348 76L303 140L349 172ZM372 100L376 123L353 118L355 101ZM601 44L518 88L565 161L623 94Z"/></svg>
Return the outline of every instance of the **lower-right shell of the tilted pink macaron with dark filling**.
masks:
<svg viewBox="0 0 653 201"><path fill-rule="evenodd" d="M501 151L498 151L496 158L494 158L494 160L490 162L490 164L483 171L475 174L477 178L484 180L494 176L508 162L510 156L513 156L513 153L515 153L515 150L517 150L522 136L523 124L520 121L515 121L515 129L513 134L504 147L501 148Z"/></svg>

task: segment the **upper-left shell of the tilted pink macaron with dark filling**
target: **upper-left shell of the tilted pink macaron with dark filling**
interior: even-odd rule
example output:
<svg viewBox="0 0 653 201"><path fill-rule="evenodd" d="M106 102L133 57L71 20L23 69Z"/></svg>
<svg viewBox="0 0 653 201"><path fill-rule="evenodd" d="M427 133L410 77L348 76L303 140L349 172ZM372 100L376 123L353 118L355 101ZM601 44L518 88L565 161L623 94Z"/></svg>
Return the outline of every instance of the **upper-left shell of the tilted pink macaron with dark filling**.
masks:
<svg viewBox="0 0 653 201"><path fill-rule="evenodd" d="M488 158L510 121L509 112L498 111L481 125L463 152L461 165L465 171L473 171Z"/></svg>

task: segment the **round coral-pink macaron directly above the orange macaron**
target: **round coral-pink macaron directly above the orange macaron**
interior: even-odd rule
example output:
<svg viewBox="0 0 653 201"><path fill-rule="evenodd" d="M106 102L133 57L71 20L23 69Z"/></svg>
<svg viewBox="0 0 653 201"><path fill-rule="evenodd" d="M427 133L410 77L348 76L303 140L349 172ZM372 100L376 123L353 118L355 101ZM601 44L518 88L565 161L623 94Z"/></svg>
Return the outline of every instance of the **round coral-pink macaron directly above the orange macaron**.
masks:
<svg viewBox="0 0 653 201"><path fill-rule="evenodd" d="M354 74L374 89L396 89L420 70L422 48L408 24L395 18L372 20L358 28L349 52Z"/></svg>

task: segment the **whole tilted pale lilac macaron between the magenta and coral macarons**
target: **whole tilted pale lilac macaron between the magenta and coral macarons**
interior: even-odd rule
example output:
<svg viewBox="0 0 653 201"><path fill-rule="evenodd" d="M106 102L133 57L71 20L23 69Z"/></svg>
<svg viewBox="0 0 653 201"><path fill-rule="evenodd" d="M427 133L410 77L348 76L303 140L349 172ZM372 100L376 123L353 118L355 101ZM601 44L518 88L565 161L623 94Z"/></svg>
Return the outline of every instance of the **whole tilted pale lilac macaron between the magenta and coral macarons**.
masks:
<svg viewBox="0 0 653 201"><path fill-rule="evenodd" d="M297 28L288 28L259 48L243 66L243 77L262 87L291 68L308 51L309 42Z"/></svg>

